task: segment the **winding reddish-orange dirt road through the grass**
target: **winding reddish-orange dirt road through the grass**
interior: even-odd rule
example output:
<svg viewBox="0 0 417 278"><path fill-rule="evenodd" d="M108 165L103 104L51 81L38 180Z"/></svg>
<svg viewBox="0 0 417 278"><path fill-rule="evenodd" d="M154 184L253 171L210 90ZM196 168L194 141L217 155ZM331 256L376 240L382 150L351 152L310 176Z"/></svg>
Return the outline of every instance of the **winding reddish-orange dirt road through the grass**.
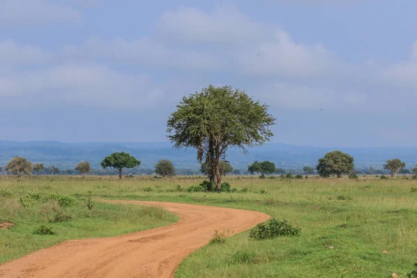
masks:
<svg viewBox="0 0 417 278"><path fill-rule="evenodd" d="M256 211L217 206L111 202L162 206L181 219L124 236L66 241L0 265L0 277L173 277L179 263L206 245L215 229L238 234L269 218Z"/></svg>

